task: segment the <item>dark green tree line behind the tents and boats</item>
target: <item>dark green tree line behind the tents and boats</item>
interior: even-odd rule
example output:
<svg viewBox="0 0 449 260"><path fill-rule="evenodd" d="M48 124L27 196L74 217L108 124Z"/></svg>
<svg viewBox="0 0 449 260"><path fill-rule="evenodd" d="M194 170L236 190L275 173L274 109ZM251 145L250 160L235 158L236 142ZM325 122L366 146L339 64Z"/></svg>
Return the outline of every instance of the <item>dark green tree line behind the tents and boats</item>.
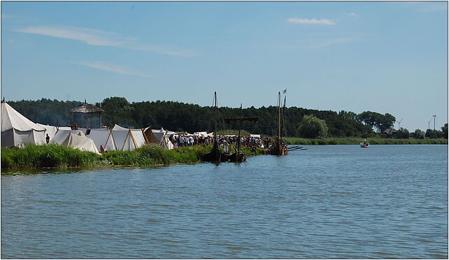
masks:
<svg viewBox="0 0 449 260"><path fill-rule="evenodd" d="M41 99L37 101L8 101L10 106L33 122L55 126L71 124L69 111L80 106L80 101L57 101ZM102 124L113 127L119 124L122 127L152 129L169 129L171 131L213 131L214 108L189 103L173 101L143 101L129 103L123 97L109 97L95 103L95 106L104 110ZM332 110L312 110L306 108L290 107L283 111L283 136L298 137L369 137L376 136L378 132L393 126L396 118L388 113L364 111L356 114L341 110L336 113ZM90 127L99 127L98 115L90 115ZM259 117L253 122L225 123L222 119L227 117ZM308 124L306 121L311 121ZM318 121L317 121L318 120ZM85 127L87 121L76 115L73 123ZM262 106L261 108L218 108L218 129L243 129L250 133L262 133L274 136L277 133L278 107ZM325 127L324 131L313 124L318 122ZM315 131L310 128L315 127ZM318 129L318 130L317 130ZM318 133L317 133L318 131ZM447 136L447 132L446 132Z"/></svg>

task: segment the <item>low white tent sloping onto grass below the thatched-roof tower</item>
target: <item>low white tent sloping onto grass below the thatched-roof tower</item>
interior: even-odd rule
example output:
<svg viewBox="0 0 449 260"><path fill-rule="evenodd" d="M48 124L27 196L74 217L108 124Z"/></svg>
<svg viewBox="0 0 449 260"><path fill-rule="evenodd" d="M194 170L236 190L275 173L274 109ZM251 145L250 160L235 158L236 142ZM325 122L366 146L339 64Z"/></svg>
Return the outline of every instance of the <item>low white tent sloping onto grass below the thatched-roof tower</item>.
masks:
<svg viewBox="0 0 449 260"><path fill-rule="evenodd" d="M95 147L94 140L87 138L81 130L58 130L55 137L50 140L50 143L57 143L58 145L65 145L78 150L100 154L97 147Z"/></svg>

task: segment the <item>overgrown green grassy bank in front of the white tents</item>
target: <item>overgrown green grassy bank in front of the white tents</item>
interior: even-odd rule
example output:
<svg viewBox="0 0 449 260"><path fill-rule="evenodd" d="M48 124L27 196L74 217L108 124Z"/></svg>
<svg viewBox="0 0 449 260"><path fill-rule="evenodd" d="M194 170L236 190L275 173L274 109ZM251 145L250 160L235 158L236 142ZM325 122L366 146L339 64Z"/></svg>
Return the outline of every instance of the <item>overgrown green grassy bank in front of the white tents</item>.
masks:
<svg viewBox="0 0 449 260"><path fill-rule="evenodd" d="M162 166L196 164L212 150L212 145L195 145L164 150L145 145L134 151L111 151L102 155L82 152L62 145L26 145L23 148L1 148L2 169L37 168L102 168L113 166ZM250 156L263 154L262 149L243 150Z"/></svg>

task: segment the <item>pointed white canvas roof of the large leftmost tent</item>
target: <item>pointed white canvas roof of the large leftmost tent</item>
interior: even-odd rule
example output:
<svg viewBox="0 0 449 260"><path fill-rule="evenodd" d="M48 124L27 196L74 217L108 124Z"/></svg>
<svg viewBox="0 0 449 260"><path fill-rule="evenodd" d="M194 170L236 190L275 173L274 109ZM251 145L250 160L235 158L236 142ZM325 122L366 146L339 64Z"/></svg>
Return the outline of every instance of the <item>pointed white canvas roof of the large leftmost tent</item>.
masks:
<svg viewBox="0 0 449 260"><path fill-rule="evenodd" d="M18 113L6 102L1 102L1 131L15 129L17 131L45 131L45 128L31 122L27 117Z"/></svg>

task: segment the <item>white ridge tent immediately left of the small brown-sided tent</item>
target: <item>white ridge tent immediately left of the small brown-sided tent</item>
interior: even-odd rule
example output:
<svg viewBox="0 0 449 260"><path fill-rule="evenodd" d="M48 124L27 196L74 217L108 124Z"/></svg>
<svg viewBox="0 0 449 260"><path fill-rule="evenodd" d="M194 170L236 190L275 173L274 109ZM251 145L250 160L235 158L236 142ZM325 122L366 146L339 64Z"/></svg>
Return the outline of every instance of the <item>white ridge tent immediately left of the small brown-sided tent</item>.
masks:
<svg viewBox="0 0 449 260"><path fill-rule="evenodd" d="M133 151L147 143L141 129L126 129L115 124L111 132L117 150Z"/></svg>

